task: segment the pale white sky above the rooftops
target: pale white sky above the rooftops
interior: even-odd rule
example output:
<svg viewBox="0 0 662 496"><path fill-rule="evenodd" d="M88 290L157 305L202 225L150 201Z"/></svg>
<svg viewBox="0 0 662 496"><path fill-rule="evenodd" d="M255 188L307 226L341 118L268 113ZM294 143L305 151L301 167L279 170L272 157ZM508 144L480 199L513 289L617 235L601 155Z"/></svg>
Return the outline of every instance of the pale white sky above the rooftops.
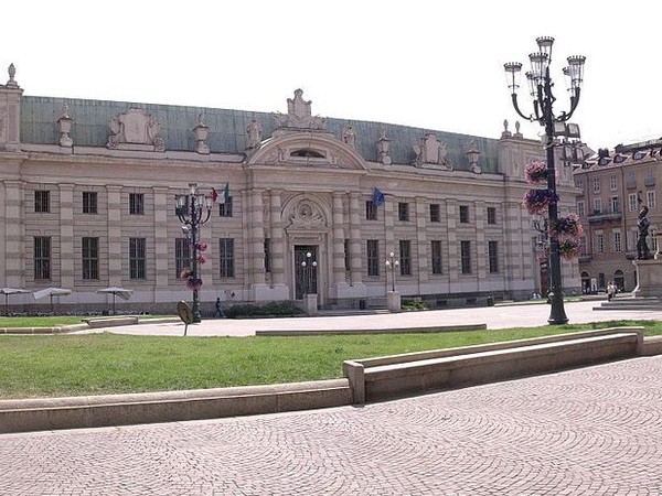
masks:
<svg viewBox="0 0 662 496"><path fill-rule="evenodd" d="M321 117L495 139L504 119L542 133L516 116L503 64L526 69L535 39L554 36L556 114L567 56L587 57L583 141L662 137L652 0L21 0L0 14L0 84L13 63L25 95L287 112L301 88Z"/></svg>

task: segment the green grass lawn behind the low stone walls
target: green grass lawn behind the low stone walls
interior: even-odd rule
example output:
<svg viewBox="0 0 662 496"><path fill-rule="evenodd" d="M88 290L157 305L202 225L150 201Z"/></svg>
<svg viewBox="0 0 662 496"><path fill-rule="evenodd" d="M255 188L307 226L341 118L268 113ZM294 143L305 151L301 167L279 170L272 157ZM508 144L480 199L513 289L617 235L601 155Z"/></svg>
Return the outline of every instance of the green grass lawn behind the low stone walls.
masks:
<svg viewBox="0 0 662 496"><path fill-rule="evenodd" d="M53 325L53 324L50 324ZM0 398L197 389L341 377L350 358L662 323L601 322L438 334L309 337L164 337L111 333L0 335Z"/></svg>

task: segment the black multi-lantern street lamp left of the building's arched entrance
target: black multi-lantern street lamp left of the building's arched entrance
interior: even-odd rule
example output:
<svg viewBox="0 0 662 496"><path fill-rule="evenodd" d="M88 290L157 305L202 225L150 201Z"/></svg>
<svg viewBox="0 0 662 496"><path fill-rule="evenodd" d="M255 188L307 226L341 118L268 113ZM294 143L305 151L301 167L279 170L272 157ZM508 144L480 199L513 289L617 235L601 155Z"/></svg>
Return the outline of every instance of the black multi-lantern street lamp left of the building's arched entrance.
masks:
<svg viewBox="0 0 662 496"><path fill-rule="evenodd" d="M201 322L200 303L197 301L197 291L202 285L202 279L197 271L197 252L200 249L200 239L197 237L200 226L210 219L212 213L212 198L197 193L197 183L189 183L190 193L188 195L177 195L174 197L174 212L182 223L182 231L191 241L191 274L189 276L189 287L193 291L193 322ZM203 247L204 248L204 247Z"/></svg>

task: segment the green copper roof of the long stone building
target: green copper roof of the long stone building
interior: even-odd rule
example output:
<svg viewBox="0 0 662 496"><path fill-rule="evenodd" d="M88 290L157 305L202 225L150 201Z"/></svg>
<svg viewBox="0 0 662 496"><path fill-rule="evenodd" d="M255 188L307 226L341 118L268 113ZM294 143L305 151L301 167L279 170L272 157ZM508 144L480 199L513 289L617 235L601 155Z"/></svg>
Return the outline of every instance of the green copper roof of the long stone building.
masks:
<svg viewBox="0 0 662 496"><path fill-rule="evenodd" d="M104 147L110 134L108 121L130 107L145 109L159 121L166 150L195 150L193 128L200 112L204 115L204 123L209 127L207 145L213 153L244 153L246 126L254 118L263 128L263 139L269 138L276 127L275 112L24 96L21 100L21 141L57 143L60 133L55 122L62 115L64 104L68 105L68 115L74 119L71 137L75 147ZM481 153L479 164L483 172L499 170L499 141L494 139L335 118L325 118L325 130L339 138L346 126L352 126L356 136L356 151L369 161L377 160L376 142L384 128L391 140L389 154L393 163L412 163L415 157L413 144L426 133L433 133L439 142L446 143L447 158L456 170L470 169L466 153L472 147Z"/></svg>

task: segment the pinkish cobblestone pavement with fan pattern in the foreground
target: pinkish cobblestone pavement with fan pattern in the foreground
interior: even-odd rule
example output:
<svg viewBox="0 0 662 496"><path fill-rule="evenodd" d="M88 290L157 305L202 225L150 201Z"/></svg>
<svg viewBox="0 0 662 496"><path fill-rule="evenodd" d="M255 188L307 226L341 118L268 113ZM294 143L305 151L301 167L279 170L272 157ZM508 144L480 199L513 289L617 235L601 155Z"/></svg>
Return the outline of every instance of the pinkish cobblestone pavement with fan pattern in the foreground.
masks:
<svg viewBox="0 0 662 496"><path fill-rule="evenodd" d="M662 356L308 412L0 435L0 494L662 494Z"/></svg>

